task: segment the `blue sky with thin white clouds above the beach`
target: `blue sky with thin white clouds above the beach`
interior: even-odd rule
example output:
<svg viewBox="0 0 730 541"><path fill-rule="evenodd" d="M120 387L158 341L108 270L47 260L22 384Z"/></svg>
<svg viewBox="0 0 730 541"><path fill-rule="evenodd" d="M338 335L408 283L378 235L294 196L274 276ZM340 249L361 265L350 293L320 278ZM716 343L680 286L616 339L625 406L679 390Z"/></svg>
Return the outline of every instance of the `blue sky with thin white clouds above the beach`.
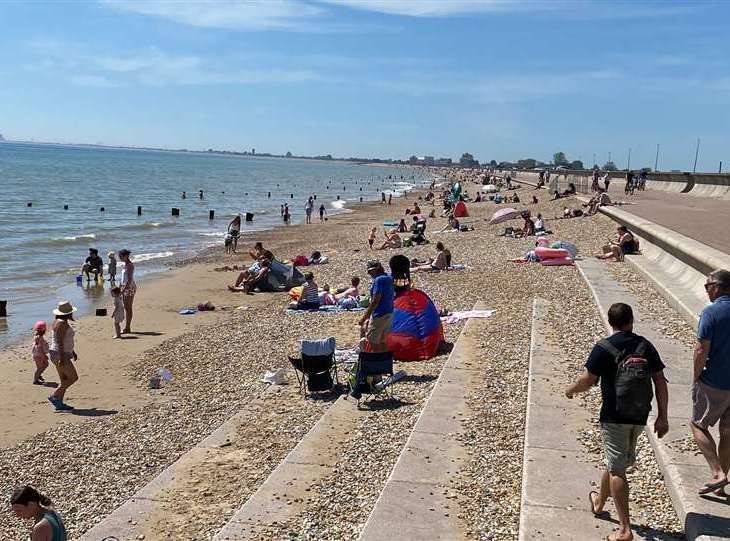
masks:
<svg viewBox="0 0 730 541"><path fill-rule="evenodd" d="M0 4L0 133L730 167L730 3Z"/></svg>

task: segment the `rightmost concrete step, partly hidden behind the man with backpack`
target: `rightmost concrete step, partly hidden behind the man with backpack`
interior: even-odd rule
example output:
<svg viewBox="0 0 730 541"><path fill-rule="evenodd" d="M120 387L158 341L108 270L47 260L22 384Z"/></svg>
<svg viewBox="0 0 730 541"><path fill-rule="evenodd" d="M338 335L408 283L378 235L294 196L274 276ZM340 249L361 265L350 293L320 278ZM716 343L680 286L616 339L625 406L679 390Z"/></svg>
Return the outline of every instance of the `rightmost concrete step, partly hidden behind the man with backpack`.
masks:
<svg viewBox="0 0 730 541"><path fill-rule="evenodd" d="M579 261L578 269L588 283L598 305L606 329L608 308L614 302L625 302L634 309L635 331L649 339L667 366L669 389L670 432L658 439L651 430L646 435L654 448L657 463L664 476L674 509L684 523L687 539L727 539L730 536L730 505L697 496L697 489L709 477L704 459L694 453L672 449L672 442L686 438L690 432L687 419L691 416L690 388L692 382L692 351L675 339L664 336L656 318L643 313L640 301L609 272L607 264L595 259ZM653 423L653 416L647 426Z"/></svg>

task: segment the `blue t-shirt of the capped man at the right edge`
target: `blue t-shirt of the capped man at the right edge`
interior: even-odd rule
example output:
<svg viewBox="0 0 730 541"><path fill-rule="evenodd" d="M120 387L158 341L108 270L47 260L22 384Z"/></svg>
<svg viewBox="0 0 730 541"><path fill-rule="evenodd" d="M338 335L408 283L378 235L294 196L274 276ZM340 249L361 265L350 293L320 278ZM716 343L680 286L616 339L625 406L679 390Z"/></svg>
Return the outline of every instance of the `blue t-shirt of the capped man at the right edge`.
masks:
<svg viewBox="0 0 730 541"><path fill-rule="evenodd" d="M697 338L710 341L710 353L700 381L730 391L730 295L718 297L702 310Z"/></svg>

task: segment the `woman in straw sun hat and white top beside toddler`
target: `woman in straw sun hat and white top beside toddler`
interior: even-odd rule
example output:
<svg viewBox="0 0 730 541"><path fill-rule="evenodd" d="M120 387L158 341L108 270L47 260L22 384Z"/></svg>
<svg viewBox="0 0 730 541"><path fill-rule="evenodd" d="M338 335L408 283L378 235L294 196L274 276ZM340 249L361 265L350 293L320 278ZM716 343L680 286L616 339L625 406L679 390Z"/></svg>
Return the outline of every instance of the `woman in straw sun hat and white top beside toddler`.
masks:
<svg viewBox="0 0 730 541"><path fill-rule="evenodd" d="M70 323L73 321L75 311L76 308L69 301L60 301L53 311L55 320L51 326L51 345L48 349L51 362L58 371L61 385L48 397L48 401L53 404L56 411L73 409L73 406L64 403L63 399L66 396L66 390L79 379L76 367L73 365L73 361L78 359L74 351L76 332Z"/></svg>

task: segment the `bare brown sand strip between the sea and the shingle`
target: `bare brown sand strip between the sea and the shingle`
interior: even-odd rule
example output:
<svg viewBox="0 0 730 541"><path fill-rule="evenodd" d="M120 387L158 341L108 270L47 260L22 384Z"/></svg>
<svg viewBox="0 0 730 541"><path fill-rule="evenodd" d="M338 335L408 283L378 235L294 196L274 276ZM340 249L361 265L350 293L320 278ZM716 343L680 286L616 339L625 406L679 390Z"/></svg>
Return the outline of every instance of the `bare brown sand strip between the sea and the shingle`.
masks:
<svg viewBox="0 0 730 541"><path fill-rule="evenodd" d="M422 188L414 188L400 197L393 198L393 205L390 208L394 211L400 209L408 194L418 197L422 190ZM385 208L387 209L387 206ZM307 225L304 222L291 225L282 224L270 229L251 232L242 236L239 240L237 254L226 254L221 244L209 246L193 255L166 262L166 269L164 270L143 274L142 279L138 280L139 292L142 292L143 295L138 294L135 299L135 315L132 324L133 330L145 329L143 333L147 334L142 334L139 337L133 336L128 339L114 341L111 339L112 323L109 315L94 315L93 309L96 307L106 307L108 314L112 313L108 282L105 281L103 290L101 287L96 288L101 290L102 295L92 301L89 305L90 311L81 314L74 325L77 330L77 352L80 358L77 369L81 378L90 378L94 385L93 393L85 393L86 396L83 400L73 401L74 405L84 409L86 406L91 407L94 403L102 410L106 408L114 413L120 411L115 409L119 405L125 408L143 406L146 399L149 398L146 396L149 393L145 389L140 389L138 384L130 381L127 374L127 370L136 361L149 354L165 341L193 332L201 326L207 326L211 323L211 320L216 322L229 318L238 305L257 305L266 302L267 294L258 293L253 297L231 296L224 286L211 289L207 285L211 282L211 277L217 278L225 275L229 279L228 281L232 282L236 274L215 272L211 276L211 266L240 265L241 260L244 262L249 261L248 250L255 241L261 241L265 245L274 243L282 247L301 244L306 242L308 228L320 227L327 230L336 228L338 222L341 221L366 220L368 209L382 210L383 205L379 201L357 202L348 207L348 212L338 212L329 217L329 220L324 224L320 224L317 220L312 225ZM398 210L398 212L402 211ZM311 250L307 253L311 253ZM281 260L290 259L295 255L297 254L277 253L277 257ZM65 287L76 288L77 286ZM153 293L150 294L150 291L153 291ZM183 307L208 301L213 302L218 309L213 312L197 313L191 316L181 316L177 313ZM150 311L152 312L150 313ZM52 315L49 313L47 321L50 321L51 318ZM151 327L154 327L155 330L146 330ZM46 338L48 339L47 335ZM0 416L8 419L13 418L15 406L11 406L11 404L15 402L15 399L21 401L23 398L27 399L26 391L29 387L38 389L38 387L30 386L29 383L29 378L32 375L31 340L32 336L29 331L26 337L20 336L13 343L0 350L0 376L5 376L3 379L6 388L6 400L0 402ZM123 346L119 348L121 350L119 356L115 356L113 352L116 349L115 343ZM90 366L85 362L90 351L100 351L110 359L113 358L114 362L107 364L97 360L93 366ZM21 373L25 373L23 377L19 377ZM50 381L57 379L52 365L46 370L45 375L47 376L46 379ZM152 375L150 373L150 376ZM118 380L118 383L110 383L108 381L110 379ZM123 388L133 391L128 399L125 399ZM69 397L72 397L76 390L78 390L76 386L72 387L69 391ZM52 392L52 389L48 391L49 394L50 392ZM33 414L33 420L27 422L26 419L24 422L6 423L0 429L0 448L18 443L25 438L32 437L39 431L53 427L60 418L80 421L84 417L84 415L73 417L55 415L52 408L45 402L44 393L33 394L38 395L32 401L31 413ZM115 406L114 404L118 405Z"/></svg>

